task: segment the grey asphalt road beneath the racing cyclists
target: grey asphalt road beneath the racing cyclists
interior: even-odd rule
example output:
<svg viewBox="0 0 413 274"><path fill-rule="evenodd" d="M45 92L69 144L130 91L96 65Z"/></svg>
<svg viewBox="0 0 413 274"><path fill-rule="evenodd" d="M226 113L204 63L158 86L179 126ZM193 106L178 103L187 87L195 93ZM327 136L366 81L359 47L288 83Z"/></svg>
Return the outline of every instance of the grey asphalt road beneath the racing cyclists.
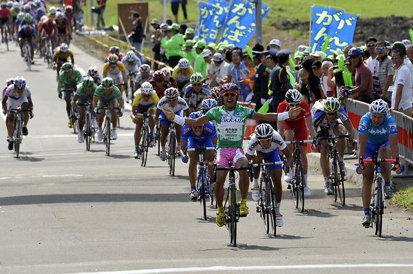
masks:
<svg viewBox="0 0 413 274"><path fill-rule="evenodd" d="M72 50L83 70L102 69L103 62ZM19 159L8 151L0 123L0 273L413 272L412 214L390 205L378 238L361 226L359 187L346 186L341 207L325 196L315 169L304 213L293 208L284 185L284 226L271 237L250 196L238 246L229 245L228 231L215 225L215 209L204 221L200 204L190 202L187 165L178 159L171 178L155 149L145 168L131 157L134 127L127 114L111 156L103 143L86 151L67 127L55 72L38 58L26 71L15 47L5 52L0 45L0 60L1 83L27 79L35 115Z"/></svg>

